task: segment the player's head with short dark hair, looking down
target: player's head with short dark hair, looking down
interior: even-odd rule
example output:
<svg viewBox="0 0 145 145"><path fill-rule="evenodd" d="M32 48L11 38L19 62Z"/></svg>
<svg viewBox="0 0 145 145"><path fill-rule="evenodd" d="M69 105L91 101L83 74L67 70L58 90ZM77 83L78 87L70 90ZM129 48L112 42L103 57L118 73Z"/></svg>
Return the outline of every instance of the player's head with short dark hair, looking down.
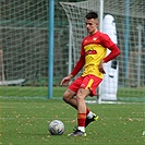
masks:
<svg viewBox="0 0 145 145"><path fill-rule="evenodd" d="M85 15L86 28L89 34L94 34L98 26L98 14L96 12L88 12Z"/></svg>

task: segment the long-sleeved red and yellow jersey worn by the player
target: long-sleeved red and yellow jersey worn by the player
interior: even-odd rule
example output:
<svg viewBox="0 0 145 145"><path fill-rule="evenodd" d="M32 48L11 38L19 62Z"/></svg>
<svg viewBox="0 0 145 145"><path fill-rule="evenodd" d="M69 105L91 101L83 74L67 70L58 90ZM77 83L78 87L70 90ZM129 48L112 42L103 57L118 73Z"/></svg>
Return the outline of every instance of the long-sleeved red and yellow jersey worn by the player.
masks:
<svg viewBox="0 0 145 145"><path fill-rule="evenodd" d="M106 57L107 48L111 50ZM94 35L86 36L82 41L81 58L76 63L72 74L75 75L83 67L85 67L82 76L93 74L102 78L98 65L101 60L108 62L120 53L119 48L111 41L107 34L97 31Z"/></svg>

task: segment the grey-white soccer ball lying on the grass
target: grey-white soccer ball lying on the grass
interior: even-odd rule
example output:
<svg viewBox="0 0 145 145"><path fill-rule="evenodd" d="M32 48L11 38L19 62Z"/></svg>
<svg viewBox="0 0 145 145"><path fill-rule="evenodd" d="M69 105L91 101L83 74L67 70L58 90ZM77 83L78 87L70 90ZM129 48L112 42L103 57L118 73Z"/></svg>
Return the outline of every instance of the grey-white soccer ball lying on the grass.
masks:
<svg viewBox="0 0 145 145"><path fill-rule="evenodd" d="M64 132L64 124L60 120L53 120L50 122L48 130L51 135L61 135Z"/></svg>

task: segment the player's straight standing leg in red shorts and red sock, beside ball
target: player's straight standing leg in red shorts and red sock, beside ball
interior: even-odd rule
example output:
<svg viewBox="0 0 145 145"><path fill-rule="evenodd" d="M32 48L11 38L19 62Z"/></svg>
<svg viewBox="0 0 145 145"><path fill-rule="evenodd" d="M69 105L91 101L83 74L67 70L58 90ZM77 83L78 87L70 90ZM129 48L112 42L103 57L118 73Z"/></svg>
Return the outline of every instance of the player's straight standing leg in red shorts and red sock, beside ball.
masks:
<svg viewBox="0 0 145 145"><path fill-rule="evenodd" d="M76 94L76 102L77 102L77 129L75 132L71 133L70 136L86 136L85 133L85 124L86 124L86 113L87 116L90 116L89 109L86 107L85 98L88 95L93 94L93 84L94 84L94 77L90 77L89 75L86 75L82 84L80 86L80 89Z"/></svg>

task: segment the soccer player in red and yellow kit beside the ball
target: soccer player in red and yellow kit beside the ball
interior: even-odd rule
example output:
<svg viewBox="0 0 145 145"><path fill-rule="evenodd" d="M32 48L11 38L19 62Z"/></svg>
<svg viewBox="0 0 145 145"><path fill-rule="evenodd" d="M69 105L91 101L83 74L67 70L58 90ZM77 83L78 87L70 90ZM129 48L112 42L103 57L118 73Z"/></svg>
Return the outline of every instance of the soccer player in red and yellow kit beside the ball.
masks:
<svg viewBox="0 0 145 145"><path fill-rule="evenodd" d="M120 55L120 49L109 36L98 31L96 12L86 14L85 24L88 35L82 41L80 59L71 74L61 81L61 85L67 85L84 67L83 74L72 82L63 94L63 100L77 110L77 129L69 136L86 136L85 128L98 120L98 116L86 107L85 98L96 95L96 88L106 73L104 63ZM108 56L107 48L110 50Z"/></svg>

